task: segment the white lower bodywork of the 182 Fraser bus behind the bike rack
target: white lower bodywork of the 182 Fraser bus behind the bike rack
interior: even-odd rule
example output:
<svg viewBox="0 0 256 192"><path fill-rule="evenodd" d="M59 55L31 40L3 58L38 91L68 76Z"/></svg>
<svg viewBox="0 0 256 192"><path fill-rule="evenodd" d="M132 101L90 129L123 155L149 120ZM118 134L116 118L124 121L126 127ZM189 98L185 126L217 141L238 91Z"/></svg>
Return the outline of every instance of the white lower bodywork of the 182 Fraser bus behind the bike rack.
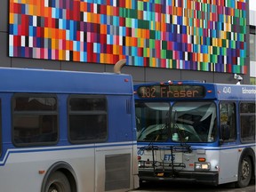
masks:
<svg viewBox="0 0 256 192"><path fill-rule="evenodd" d="M142 146L139 146L138 148L138 155L141 157L141 160L152 162L152 149L141 149L141 147ZM159 166L156 167L159 168L159 170L162 166L160 165L161 163L172 164L171 151L166 150L168 146L161 146L160 148L154 150L154 160L159 164ZM200 148L197 146L194 149L192 147L192 151L190 152L173 152L173 163L184 164L183 167L175 167L175 170L178 172L190 172L191 174L193 174L193 172L202 172L202 174L207 172L216 172L218 173L219 178L216 180L218 185L228 182L236 182L238 180L239 161L245 148L252 148L255 151L255 146L252 147L252 145L234 145L233 147L228 145L228 147L221 146L205 148ZM205 158L205 163L211 164L210 170L195 170L195 163L198 162L199 158ZM148 164L148 167L146 165L144 168L140 168L142 171L143 169L145 171L151 170L151 172L153 172L152 164ZM168 167L167 165L164 169L170 170L172 168ZM175 179L177 180L179 178Z"/></svg>

